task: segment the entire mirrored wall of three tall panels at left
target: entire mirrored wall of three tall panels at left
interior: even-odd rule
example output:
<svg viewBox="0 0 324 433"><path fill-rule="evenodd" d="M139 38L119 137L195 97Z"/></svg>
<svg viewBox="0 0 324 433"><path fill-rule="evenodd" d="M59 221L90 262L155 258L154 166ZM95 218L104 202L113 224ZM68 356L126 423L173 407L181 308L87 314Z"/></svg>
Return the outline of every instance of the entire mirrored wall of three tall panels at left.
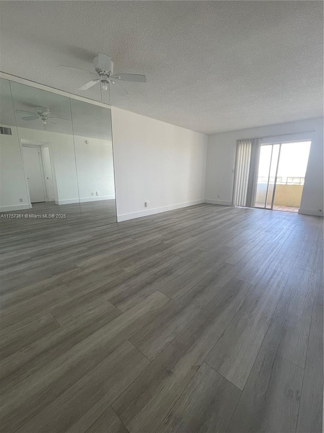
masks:
<svg viewBox="0 0 324 433"><path fill-rule="evenodd" d="M5 79L0 101L0 212L116 222L110 110Z"/></svg>

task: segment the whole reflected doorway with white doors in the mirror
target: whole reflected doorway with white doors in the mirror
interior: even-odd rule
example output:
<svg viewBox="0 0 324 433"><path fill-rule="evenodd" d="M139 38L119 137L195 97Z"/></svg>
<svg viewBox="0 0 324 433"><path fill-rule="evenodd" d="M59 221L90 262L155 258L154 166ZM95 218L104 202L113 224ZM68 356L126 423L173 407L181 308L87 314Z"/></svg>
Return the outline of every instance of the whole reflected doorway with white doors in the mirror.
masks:
<svg viewBox="0 0 324 433"><path fill-rule="evenodd" d="M48 145L22 145L24 171L30 203L55 200L51 156Z"/></svg>

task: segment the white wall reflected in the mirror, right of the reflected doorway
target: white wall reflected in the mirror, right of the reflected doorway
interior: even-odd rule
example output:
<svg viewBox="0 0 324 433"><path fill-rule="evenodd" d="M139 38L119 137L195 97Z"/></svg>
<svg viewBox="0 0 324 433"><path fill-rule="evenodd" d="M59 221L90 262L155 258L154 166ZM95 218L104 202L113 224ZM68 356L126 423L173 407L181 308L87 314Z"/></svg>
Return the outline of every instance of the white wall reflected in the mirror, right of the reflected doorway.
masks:
<svg viewBox="0 0 324 433"><path fill-rule="evenodd" d="M72 135L29 128L18 132L20 140L49 143L57 204L78 203L79 197L81 202L115 198L111 141L74 136L74 155Z"/></svg>

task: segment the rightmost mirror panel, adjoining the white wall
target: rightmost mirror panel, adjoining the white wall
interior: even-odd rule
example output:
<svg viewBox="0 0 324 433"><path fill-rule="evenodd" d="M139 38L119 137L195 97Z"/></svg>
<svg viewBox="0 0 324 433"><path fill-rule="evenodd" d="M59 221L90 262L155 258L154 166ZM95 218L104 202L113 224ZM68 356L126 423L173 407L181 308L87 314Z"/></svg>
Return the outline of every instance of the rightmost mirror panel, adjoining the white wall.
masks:
<svg viewBox="0 0 324 433"><path fill-rule="evenodd" d="M82 225L101 227L116 222L110 110L71 99L71 111Z"/></svg>

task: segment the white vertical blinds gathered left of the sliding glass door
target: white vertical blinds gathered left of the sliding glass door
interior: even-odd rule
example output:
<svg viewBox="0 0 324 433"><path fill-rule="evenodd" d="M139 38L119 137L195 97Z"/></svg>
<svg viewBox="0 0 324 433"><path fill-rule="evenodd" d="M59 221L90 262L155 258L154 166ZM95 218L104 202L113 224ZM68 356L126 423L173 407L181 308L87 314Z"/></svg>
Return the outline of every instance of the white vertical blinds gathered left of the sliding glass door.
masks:
<svg viewBox="0 0 324 433"><path fill-rule="evenodd" d="M234 172L233 205L255 206L261 139L238 140Z"/></svg>

